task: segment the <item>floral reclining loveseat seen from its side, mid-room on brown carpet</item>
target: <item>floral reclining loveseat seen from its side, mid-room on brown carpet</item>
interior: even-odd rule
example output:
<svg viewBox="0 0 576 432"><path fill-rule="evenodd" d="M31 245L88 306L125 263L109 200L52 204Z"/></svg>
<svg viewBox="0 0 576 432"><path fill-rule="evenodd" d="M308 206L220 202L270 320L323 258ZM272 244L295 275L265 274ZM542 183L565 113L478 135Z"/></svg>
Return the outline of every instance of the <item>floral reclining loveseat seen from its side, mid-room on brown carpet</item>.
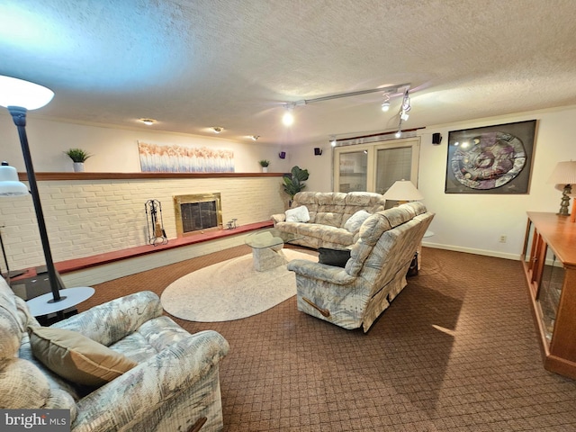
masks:
<svg viewBox="0 0 576 432"><path fill-rule="evenodd" d="M406 273L434 213L421 202L378 211L362 224L344 268L296 259L298 310L368 331L407 285Z"/></svg>

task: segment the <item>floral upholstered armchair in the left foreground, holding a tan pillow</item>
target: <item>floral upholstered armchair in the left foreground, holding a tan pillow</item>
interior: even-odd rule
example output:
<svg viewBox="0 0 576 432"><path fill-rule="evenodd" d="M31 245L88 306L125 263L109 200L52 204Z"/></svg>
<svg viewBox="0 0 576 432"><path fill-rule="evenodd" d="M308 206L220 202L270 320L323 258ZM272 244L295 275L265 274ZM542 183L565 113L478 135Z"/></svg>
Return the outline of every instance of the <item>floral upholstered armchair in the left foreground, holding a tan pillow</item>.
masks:
<svg viewBox="0 0 576 432"><path fill-rule="evenodd" d="M228 342L215 331L190 334L162 313L157 295L141 292L41 327L0 278L0 408L70 410L74 432L185 432L202 424L202 431L221 430L219 362ZM53 333L90 339L129 370L121 374L113 365L118 376L99 385L63 378L42 363L61 348L46 336ZM47 340L49 350L38 351ZM66 347L59 355L89 356L79 350ZM50 367L58 370L60 361Z"/></svg>

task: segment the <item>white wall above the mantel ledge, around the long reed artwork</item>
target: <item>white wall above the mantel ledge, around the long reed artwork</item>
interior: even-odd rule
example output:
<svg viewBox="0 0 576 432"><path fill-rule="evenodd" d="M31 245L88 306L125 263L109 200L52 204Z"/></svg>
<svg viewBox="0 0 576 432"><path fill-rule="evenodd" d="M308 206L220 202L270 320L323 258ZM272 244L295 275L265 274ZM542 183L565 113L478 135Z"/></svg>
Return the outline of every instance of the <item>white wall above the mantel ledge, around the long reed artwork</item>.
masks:
<svg viewBox="0 0 576 432"><path fill-rule="evenodd" d="M122 130L112 126L47 120L29 112L26 133L37 172L71 172L72 161L63 152L68 148L83 148L94 155L85 162L85 171L139 173L139 140L162 145L231 149L237 173L260 172L258 161L261 159L270 160L270 173L289 172L293 166L293 152L287 151L287 157L281 159L278 157L280 148L264 146L249 139L246 142L228 140L225 132L211 138L153 129ZM0 159L8 161L20 172L25 171L18 132L6 110L0 113Z"/></svg>

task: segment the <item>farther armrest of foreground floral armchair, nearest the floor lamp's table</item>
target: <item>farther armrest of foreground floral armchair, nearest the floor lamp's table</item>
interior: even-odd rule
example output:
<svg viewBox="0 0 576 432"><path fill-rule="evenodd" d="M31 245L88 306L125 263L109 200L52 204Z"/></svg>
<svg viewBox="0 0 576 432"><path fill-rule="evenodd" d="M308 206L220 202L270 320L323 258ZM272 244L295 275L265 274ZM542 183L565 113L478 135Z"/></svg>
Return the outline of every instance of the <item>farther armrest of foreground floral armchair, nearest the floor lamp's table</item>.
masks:
<svg viewBox="0 0 576 432"><path fill-rule="evenodd" d="M77 331L108 347L162 313L157 294L141 291L94 306L51 327Z"/></svg>

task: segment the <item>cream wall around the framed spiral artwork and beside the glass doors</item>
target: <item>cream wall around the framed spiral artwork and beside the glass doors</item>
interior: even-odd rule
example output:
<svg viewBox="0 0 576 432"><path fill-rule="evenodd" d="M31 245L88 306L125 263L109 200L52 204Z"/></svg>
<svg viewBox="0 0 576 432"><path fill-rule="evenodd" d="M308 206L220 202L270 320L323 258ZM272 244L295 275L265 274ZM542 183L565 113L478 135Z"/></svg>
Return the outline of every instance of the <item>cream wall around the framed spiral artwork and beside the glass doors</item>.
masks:
<svg viewBox="0 0 576 432"><path fill-rule="evenodd" d="M430 230L435 235L425 238L424 245L494 257L518 259L524 243L527 211L557 212L562 193L548 184L554 166L564 160L576 160L576 107L540 112L524 112L505 117L431 126L419 130L419 190L428 209L436 213ZM455 194L445 193L448 132L504 124L514 121L537 120L534 160L529 193ZM442 134L442 143L432 145L432 133ZM330 191L331 151L325 148L321 157L314 157L311 143L299 148L298 163L308 164L311 172L308 190ZM572 202L571 202L572 209ZM500 236L507 237L500 243Z"/></svg>

